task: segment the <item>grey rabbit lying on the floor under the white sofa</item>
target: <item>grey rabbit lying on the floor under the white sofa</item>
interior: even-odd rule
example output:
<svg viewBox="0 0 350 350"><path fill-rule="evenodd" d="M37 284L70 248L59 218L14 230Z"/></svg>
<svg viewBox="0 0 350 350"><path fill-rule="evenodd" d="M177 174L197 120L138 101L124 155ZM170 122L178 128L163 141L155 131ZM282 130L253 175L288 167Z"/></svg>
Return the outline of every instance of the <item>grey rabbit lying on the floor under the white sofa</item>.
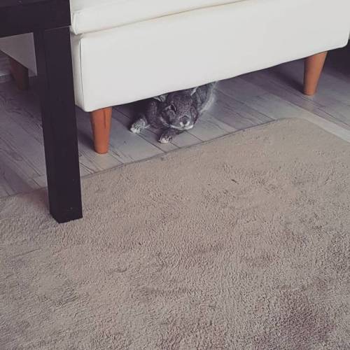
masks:
<svg viewBox="0 0 350 350"><path fill-rule="evenodd" d="M167 144L173 137L195 126L201 113L214 98L214 83L193 89L162 94L146 100L144 111L132 124L130 131L139 134L146 127L165 130L159 141Z"/></svg>

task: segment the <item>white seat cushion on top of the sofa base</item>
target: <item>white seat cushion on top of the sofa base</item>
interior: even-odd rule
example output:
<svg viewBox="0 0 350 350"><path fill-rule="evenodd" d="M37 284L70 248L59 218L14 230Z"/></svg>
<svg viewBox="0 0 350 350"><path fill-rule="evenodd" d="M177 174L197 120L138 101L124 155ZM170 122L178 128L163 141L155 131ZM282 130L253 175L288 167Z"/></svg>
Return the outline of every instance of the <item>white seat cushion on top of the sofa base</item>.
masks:
<svg viewBox="0 0 350 350"><path fill-rule="evenodd" d="M83 34L244 0L71 0L71 31Z"/></svg>

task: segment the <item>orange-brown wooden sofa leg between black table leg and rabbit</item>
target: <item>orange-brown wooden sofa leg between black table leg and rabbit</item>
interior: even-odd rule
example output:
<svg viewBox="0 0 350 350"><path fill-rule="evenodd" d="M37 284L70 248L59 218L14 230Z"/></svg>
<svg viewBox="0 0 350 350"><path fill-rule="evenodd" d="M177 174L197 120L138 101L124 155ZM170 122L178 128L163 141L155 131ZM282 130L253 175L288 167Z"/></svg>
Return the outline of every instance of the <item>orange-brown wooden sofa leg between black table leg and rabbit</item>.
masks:
<svg viewBox="0 0 350 350"><path fill-rule="evenodd" d="M109 134L111 132L112 107L97 109L90 113L94 151L104 154L109 151Z"/></svg>

